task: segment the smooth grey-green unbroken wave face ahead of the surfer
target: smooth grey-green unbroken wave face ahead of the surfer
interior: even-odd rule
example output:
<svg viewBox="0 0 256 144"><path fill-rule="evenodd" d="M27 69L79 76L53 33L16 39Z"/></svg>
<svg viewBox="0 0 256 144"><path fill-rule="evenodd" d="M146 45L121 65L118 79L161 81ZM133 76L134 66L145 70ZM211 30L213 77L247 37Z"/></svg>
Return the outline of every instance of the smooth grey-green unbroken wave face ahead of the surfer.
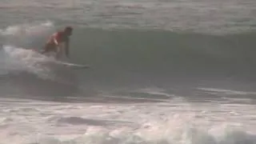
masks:
<svg viewBox="0 0 256 144"><path fill-rule="evenodd" d="M160 74L254 71L255 34L213 36L162 30L77 30L75 33L74 57L114 70L122 67Z"/></svg>

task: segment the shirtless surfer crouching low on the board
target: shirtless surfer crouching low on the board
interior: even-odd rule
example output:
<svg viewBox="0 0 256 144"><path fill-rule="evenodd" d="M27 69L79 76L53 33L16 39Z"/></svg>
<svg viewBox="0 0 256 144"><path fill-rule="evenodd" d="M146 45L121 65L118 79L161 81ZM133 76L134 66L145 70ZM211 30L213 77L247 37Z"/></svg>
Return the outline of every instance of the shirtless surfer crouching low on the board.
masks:
<svg viewBox="0 0 256 144"><path fill-rule="evenodd" d="M56 54L56 58L59 58L59 55L62 53L62 50L65 48L66 57L69 57L69 48L70 48L70 36L72 35L73 28L71 26L66 26L64 30L58 31L52 34L49 40L46 42L46 45L42 48L42 54L46 54L50 51L53 51ZM62 46L64 44L64 47Z"/></svg>

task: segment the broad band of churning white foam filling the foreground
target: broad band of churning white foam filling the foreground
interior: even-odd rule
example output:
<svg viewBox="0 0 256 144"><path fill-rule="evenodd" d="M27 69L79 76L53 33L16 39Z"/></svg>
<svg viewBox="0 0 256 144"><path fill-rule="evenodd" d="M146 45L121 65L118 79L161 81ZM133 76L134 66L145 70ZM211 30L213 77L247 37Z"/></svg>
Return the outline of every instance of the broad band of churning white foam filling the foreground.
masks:
<svg viewBox="0 0 256 144"><path fill-rule="evenodd" d="M220 117L213 113L211 113L212 119L208 117L207 121L204 116L208 113L200 113L200 109L188 103L186 106L185 103L183 106L179 105L179 109L171 107L172 110L142 105L98 104L94 106L81 103L71 106L54 102L48 102L45 105L42 102L39 105L37 102L33 103L30 102L27 105L17 103L18 107L14 106L11 108L13 110L10 110L10 113L18 114L11 122L14 125L21 125L19 128L24 127L28 131L33 131L33 134L21 133L21 129L15 126L9 127L6 129L8 131L0 134L1 138L4 136L10 138L5 139L4 144L8 142L17 144L254 144L256 140L256 135L246 131L241 123L214 122ZM31 109L31 106L37 109ZM157 107L158 110L156 110ZM184 108L190 110L184 111ZM222 112L225 111L219 111L220 114ZM22 115L27 113L30 113L30 119L26 120ZM134 117L134 114L138 113L139 115ZM224 118L229 117L226 115ZM122 119L130 122L124 122ZM16 121L19 122L16 123ZM41 122L42 126L33 126L35 121ZM18 130L17 134L11 135L10 132L14 130Z"/></svg>

